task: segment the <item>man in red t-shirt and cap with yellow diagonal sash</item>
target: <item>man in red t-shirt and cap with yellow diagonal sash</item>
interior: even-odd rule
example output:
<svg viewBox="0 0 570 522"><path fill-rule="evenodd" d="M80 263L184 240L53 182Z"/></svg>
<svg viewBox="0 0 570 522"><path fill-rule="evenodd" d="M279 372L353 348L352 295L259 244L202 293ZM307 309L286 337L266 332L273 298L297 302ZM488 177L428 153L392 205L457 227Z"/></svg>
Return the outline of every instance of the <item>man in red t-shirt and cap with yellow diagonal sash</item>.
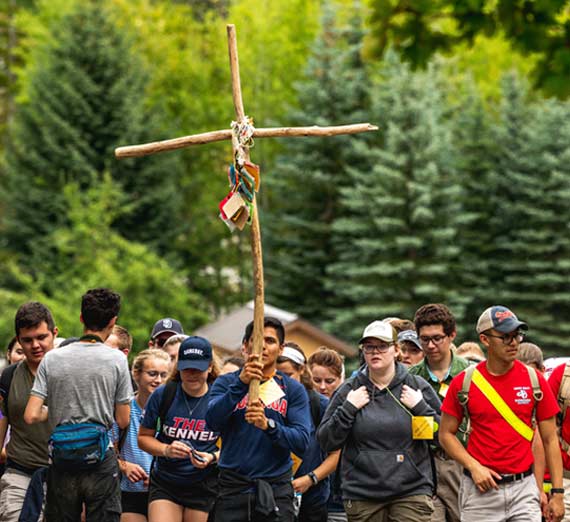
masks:
<svg viewBox="0 0 570 522"><path fill-rule="evenodd" d="M488 357L477 365L469 387L467 410L472 431L467 449L455 436L464 417L459 396L465 372L453 379L443 402L439 440L464 468L459 493L462 522L541 522L539 491L532 474L534 410L554 491L546 517L548 521L560 522L564 516L562 461L555 421L558 404L540 374L537 378L542 400L535 401L529 370L516 360L523 330L527 328L504 306L492 306L479 317L477 333ZM495 397L491 402L488 397L493 393L488 385L499 399ZM510 422L504 417L508 411L502 408L499 413L496 408L501 399L508 406L506 410L514 414ZM518 430L514 427L517 418L522 421Z"/></svg>

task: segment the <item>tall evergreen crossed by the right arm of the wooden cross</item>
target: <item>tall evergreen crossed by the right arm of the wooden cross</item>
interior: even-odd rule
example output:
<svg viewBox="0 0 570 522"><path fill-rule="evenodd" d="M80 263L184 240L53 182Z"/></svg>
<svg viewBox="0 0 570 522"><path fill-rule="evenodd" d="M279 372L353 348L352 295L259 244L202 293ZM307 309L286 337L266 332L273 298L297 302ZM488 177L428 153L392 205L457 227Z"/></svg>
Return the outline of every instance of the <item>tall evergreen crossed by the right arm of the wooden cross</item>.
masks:
<svg viewBox="0 0 570 522"><path fill-rule="evenodd" d="M368 78L361 60L359 9L346 30L335 25L330 4L306 79L297 86L300 110L294 125L335 125L362 121L368 103ZM351 164L366 159L354 143L366 137L339 136L291 140L271 176L264 253L267 301L319 323L333 297L326 267L334 258L331 226L339 212L339 189ZM368 140L370 138L368 137Z"/></svg>

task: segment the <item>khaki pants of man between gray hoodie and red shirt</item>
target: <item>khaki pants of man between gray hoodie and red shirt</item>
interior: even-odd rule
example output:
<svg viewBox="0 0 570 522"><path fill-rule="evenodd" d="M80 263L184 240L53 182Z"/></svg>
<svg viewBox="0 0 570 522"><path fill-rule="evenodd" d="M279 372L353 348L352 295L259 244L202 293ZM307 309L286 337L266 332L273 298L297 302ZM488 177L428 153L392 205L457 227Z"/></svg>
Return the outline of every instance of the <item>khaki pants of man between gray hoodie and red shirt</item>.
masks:
<svg viewBox="0 0 570 522"><path fill-rule="evenodd" d="M459 485L463 468L447 457L443 450L435 455L437 492L433 501L431 522L459 522Z"/></svg>

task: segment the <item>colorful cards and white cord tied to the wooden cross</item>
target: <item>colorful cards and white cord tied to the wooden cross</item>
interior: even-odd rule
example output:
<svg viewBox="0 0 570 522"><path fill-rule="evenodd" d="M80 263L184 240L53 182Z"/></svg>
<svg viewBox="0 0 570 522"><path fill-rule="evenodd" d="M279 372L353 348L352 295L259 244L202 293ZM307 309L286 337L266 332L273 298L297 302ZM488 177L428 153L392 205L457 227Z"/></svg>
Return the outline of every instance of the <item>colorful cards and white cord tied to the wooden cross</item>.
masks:
<svg viewBox="0 0 570 522"><path fill-rule="evenodd" d="M261 178L259 166L246 161L246 151L253 147L253 119L247 116L241 122L232 121L232 145L234 163L228 169L230 191L220 201L220 219L233 232L243 230L246 223L251 224L253 200L259 191Z"/></svg>

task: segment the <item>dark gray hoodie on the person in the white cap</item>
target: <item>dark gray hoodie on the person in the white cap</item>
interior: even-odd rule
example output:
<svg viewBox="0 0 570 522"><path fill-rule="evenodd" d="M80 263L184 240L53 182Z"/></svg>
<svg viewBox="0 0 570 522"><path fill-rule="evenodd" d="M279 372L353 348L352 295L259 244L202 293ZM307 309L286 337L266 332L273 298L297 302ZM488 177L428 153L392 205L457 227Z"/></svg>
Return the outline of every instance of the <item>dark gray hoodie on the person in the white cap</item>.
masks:
<svg viewBox="0 0 570 522"><path fill-rule="evenodd" d="M423 399L408 412L433 416L439 424L441 403L433 388L396 363L396 374L388 388L398 401L404 384L423 393ZM370 402L357 410L346 396L363 385L370 393ZM317 438L324 451L342 448L344 500L386 502L411 495L433 495L429 445L434 441L412 439L411 416L404 408L386 389L380 390L372 383L367 369L347 380L332 397Z"/></svg>

